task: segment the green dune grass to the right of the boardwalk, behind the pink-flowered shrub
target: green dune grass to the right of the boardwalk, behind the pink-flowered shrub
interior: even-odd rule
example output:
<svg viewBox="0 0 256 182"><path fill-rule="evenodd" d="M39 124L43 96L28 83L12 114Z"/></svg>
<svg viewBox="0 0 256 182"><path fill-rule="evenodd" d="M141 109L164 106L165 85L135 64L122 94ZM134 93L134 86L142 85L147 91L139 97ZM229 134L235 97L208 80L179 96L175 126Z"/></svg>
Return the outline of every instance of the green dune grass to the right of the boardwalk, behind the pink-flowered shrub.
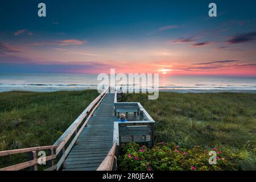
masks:
<svg viewBox="0 0 256 182"><path fill-rule="evenodd" d="M238 169L256 169L256 94L160 92L158 100L125 94L123 101L141 102L154 118L156 142L222 148Z"/></svg>

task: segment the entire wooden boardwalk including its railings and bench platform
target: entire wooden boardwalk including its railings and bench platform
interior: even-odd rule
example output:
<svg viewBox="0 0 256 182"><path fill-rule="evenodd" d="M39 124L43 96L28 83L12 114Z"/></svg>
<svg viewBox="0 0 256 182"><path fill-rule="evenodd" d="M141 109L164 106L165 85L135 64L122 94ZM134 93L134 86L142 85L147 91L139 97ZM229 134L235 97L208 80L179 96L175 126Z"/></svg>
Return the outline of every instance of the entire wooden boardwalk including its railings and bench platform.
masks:
<svg viewBox="0 0 256 182"><path fill-rule="evenodd" d="M47 155L46 171L111 171L117 169L115 155L119 143L152 146L154 119L139 102L117 102L117 91L110 93L110 89L96 97L53 145L0 151L0 157L27 153L30 158L0 171L38 171L38 165L42 165L38 153L42 151ZM117 121L121 113L126 113L128 122Z"/></svg>

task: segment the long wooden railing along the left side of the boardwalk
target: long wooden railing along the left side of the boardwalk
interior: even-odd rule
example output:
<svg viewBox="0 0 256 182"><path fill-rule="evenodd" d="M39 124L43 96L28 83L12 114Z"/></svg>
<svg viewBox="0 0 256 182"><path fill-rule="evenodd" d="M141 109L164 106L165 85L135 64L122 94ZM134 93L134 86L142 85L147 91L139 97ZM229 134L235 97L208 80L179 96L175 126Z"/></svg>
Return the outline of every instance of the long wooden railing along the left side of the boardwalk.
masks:
<svg viewBox="0 0 256 182"><path fill-rule="evenodd" d="M21 148L17 150L9 150L9 151L0 151L0 157L6 155L13 154L22 154L26 152L31 153L32 160L15 164L13 166L1 168L0 171L15 171L24 169L27 167L33 167L32 170L38 170L37 164L40 163L39 159L37 159L36 151L49 150L51 155L46 156L44 158L45 161L48 161L49 167L45 170L59 170L61 166L65 163L65 159L67 158L71 148L75 145L77 138L82 132L82 129L88 123L90 117L93 115L94 111L97 109L98 105L101 103L105 95L109 92L109 88L105 89L96 99L94 99L88 107L79 115L79 117L68 127L68 129L61 135L59 139L52 146L42 146L42 147L32 147L32 148ZM67 146L65 148L65 146ZM54 152L55 150L55 152ZM54 164L53 159L58 159L57 164Z"/></svg>

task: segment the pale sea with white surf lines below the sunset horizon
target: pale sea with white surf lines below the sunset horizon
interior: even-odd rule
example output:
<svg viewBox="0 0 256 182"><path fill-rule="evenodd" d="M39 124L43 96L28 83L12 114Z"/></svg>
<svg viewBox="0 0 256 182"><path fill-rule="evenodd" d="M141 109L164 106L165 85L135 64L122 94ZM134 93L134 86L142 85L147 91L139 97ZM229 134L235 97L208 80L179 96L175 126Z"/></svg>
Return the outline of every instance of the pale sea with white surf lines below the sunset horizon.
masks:
<svg viewBox="0 0 256 182"><path fill-rule="evenodd" d="M0 73L0 92L97 89L102 81L97 77L97 74L76 73ZM136 88L139 83L129 82L122 86ZM256 77L159 75L159 90L184 93L226 91L255 93Z"/></svg>

